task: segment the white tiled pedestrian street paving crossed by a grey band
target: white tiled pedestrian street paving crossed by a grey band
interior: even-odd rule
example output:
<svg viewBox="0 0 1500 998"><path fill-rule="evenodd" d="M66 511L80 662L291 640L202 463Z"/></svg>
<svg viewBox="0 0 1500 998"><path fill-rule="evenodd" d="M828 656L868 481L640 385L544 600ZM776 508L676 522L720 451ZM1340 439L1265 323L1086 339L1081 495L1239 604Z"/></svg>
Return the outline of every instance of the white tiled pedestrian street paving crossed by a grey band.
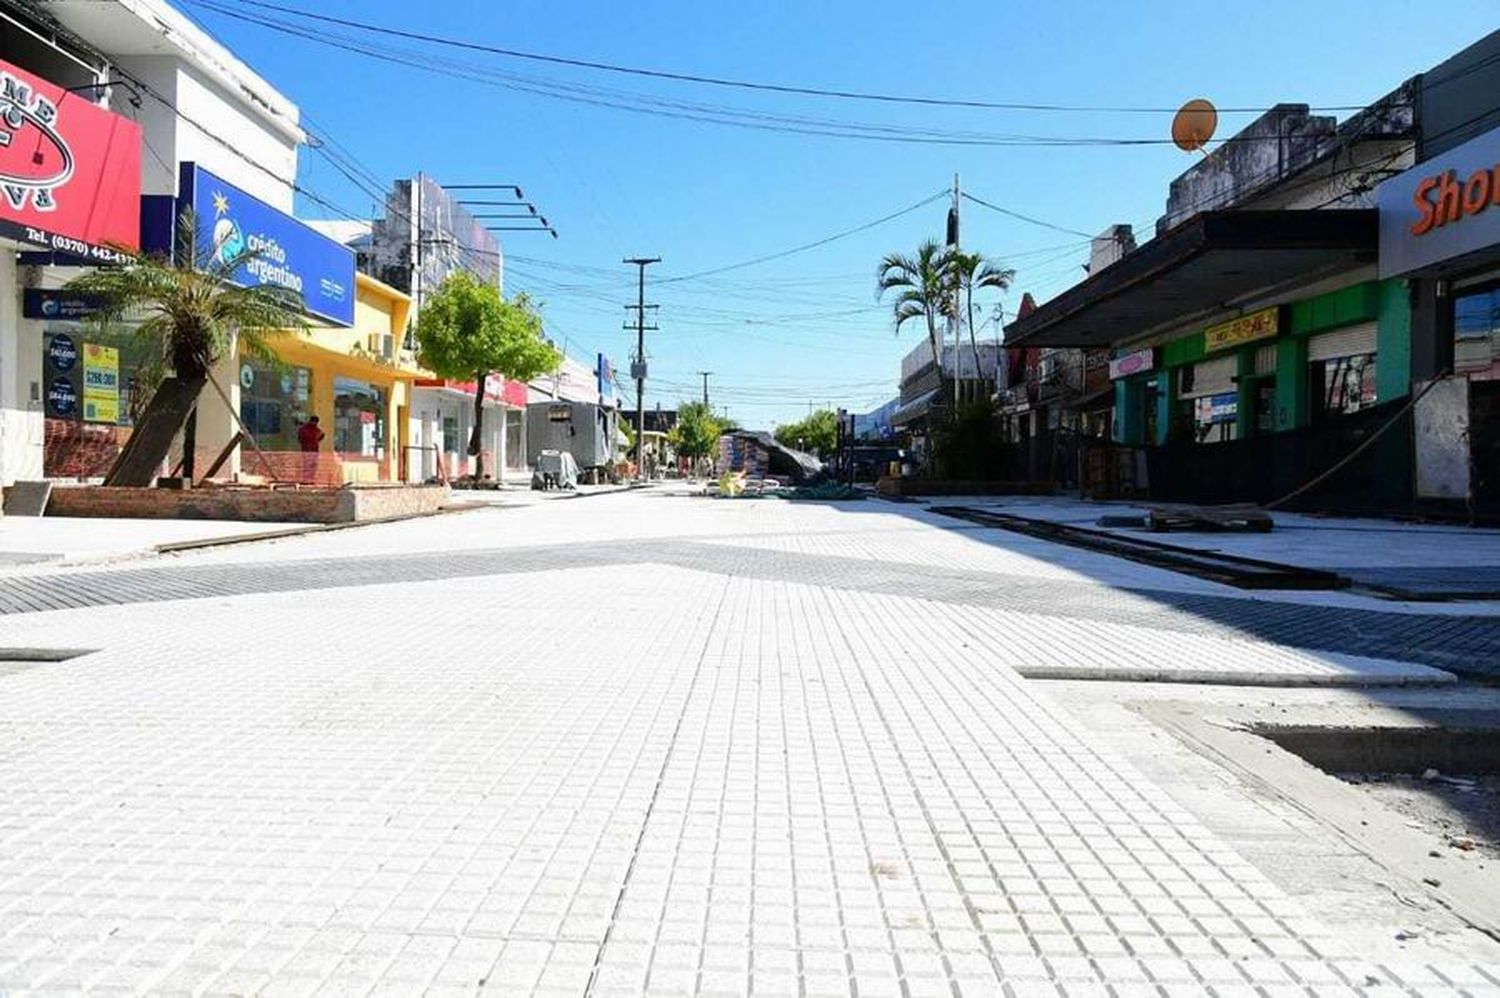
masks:
<svg viewBox="0 0 1500 998"><path fill-rule="evenodd" d="M1041 678L1442 686L1490 617L664 488L0 611L3 993L1500 993L1310 917Z"/></svg>

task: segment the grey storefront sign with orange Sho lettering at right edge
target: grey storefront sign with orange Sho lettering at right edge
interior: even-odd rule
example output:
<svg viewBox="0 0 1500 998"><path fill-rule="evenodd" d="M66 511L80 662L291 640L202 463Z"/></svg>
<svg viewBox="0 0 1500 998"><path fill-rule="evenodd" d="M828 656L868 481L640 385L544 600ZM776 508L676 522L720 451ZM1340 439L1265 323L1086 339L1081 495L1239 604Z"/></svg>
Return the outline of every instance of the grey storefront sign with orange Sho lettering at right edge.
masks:
<svg viewBox="0 0 1500 998"><path fill-rule="evenodd" d="M1500 245L1500 129L1390 177L1376 198L1382 278Z"/></svg>

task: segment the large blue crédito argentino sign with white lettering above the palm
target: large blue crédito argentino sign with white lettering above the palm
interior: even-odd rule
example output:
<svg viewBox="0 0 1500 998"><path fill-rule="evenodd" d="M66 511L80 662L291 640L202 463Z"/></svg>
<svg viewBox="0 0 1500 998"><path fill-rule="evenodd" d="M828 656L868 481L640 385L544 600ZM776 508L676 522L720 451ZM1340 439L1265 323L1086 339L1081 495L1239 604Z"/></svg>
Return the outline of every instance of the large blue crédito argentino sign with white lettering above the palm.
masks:
<svg viewBox="0 0 1500 998"><path fill-rule="evenodd" d="M182 165L180 207L192 207L200 252L219 263L254 254L231 279L302 296L309 315L354 324L354 251L196 164Z"/></svg>

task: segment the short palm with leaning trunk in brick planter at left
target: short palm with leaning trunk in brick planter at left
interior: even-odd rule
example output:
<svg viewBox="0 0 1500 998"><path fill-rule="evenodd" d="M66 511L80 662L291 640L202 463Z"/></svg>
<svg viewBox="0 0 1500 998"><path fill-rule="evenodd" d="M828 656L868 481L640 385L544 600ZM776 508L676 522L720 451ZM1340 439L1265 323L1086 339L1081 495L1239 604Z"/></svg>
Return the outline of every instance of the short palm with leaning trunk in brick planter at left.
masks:
<svg viewBox="0 0 1500 998"><path fill-rule="evenodd" d="M190 479L198 395L214 365L237 342L248 356L279 366L270 339L308 327L302 297L294 291L234 284L237 272L258 251L225 252L222 246L202 246L190 210L178 219L177 237L176 260L116 248L123 258L118 266L100 267L66 285L69 291L98 300L102 326L129 318L146 366L172 372L156 386L135 434L116 458L105 477L111 485L148 483L116 480L117 471L128 456L132 467L154 470L178 432L183 434L183 476ZM172 390L165 390L168 386Z"/></svg>

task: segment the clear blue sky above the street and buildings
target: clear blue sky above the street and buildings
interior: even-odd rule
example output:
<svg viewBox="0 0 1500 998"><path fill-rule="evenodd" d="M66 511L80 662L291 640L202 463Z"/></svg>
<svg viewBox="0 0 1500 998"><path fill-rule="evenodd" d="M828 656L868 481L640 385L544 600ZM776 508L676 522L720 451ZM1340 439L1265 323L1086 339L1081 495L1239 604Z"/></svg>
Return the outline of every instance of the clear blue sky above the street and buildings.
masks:
<svg viewBox="0 0 1500 998"><path fill-rule="evenodd" d="M438 182L522 185L561 239L506 233L507 293L542 299L548 329L568 353L591 362L603 350L621 369L634 344L621 329L622 305L634 300L634 270L622 257L662 257L651 275L666 279L777 254L915 204L950 186L954 173L974 195L1064 230L1096 233L1131 222L1144 236L1167 182L1191 165L1172 146L864 141L646 116L518 87L580 84L591 101L608 89L908 135L1164 138L1168 113L926 108L752 93L378 39L423 65L459 60L450 71L470 78L456 78L177 2L384 182L422 170ZM238 0L214 3L255 12ZM1263 0L1226 12L1198 3L294 3L405 30L696 75L1130 108L1174 108L1196 96L1221 108L1362 104L1500 27L1492 0L1450 0L1440 12L1378 0ZM327 26L318 33L354 35ZM1250 117L1226 114L1220 135ZM302 162L308 189L369 215L370 197L332 164L310 152ZM1022 291L1046 300L1082 276L1088 251L1078 236L969 203L963 210L964 246L1018 272L1008 308ZM332 215L306 198L298 212ZM716 405L753 426L806 416L808 404L866 410L894 396L900 357L921 333L892 335L874 302L874 267L885 252L940 239L944 215L936 201L807 252L657 284L648 297L662 305L662 330L648 333L646 404L696 398L698 371L714 372Z"/></svg>

